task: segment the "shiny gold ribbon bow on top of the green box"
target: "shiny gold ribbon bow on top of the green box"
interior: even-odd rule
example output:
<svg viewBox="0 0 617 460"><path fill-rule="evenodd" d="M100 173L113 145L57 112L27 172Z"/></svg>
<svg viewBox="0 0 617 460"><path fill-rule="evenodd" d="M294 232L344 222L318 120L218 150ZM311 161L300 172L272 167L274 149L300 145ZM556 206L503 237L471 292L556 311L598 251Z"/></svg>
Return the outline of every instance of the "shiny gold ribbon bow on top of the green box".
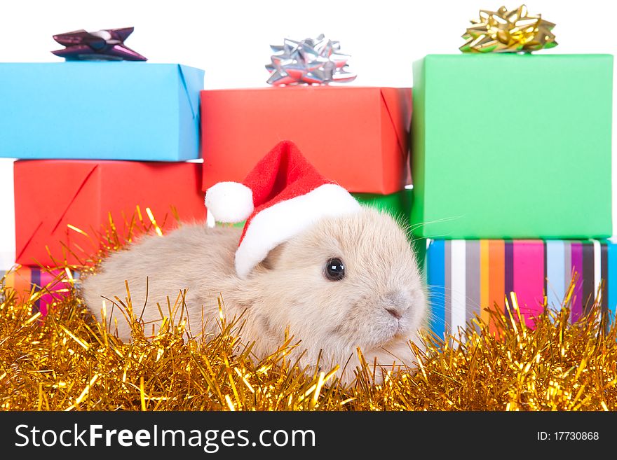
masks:
<svg viewBox="0 0 617 460"><path fill-rule="evenodd" d="M463 34L466 43L459 48L463 53L531 53L557 46L551 29L555 24L542 15L529 15L527 6L508 11L480 10L480 19L471 20L472 27Z"/></svg>

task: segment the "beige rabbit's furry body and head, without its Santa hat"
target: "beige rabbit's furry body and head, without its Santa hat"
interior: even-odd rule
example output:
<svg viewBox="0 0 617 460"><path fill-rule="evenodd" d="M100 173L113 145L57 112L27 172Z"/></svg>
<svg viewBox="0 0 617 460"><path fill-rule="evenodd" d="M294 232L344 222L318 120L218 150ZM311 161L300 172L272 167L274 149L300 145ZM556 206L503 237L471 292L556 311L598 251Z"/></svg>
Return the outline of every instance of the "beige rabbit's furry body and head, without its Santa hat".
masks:
<svg viewBox="0 0 617 460"><path fill-rule="evenodd" d="M205 332L215 333L221 296L228 319L243 314L243 342L255 341L259 358L276 349L289 326L301 340L297 351L306 349L302 364L314 365L320 350L323 368L343 368L351 358L339 375L344 381L358 365L357 347L369 363L376 356L380 365L412 365L408 341L419 344L426 295L407 237L388 214L362 208L324 218L273 249L247 279L233 268L240 232L185 225L165 237L146 237L84 279L83 297L100 320L103 296L126 297L126 280L137 316L145 303L142 320L150 324L161 321L156 302L166 312L166 298L173 303L187 289L192 332L201 331L204 318L210 320ZM114 316L118 336L129 340L130 328L117 308Z"/></svg>

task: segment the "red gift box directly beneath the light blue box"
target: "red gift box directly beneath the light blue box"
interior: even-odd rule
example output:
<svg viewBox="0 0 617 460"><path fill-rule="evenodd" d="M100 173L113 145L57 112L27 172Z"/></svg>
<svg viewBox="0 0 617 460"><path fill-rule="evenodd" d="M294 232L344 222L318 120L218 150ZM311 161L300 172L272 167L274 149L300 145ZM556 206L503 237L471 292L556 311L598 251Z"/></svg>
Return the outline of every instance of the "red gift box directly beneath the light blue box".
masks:
<svg viewBox="0 0 617 460"><path fill-rule="evenodd" d="M96 235L109 228L109 215L123 237L137 206L148 223L150 208L161 228L177 225L172 207L182 221L205 219L199 163L22 160L14 174L15 253L22 265L81 265L100 249Z"/></svg>

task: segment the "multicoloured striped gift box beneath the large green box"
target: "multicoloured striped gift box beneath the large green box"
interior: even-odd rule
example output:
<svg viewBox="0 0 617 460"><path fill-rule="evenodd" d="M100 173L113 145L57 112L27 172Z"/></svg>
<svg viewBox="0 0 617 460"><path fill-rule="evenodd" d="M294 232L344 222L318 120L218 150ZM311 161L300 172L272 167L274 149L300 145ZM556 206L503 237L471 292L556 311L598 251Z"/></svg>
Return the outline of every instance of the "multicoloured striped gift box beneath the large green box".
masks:
<svg viewBox="0 0 617 460"><path fill-rule="evenodd" d="M475 314L489 323L485 308L496 303L505 312L511 292L533 327L545 295L550 308L560 309L574 272L571 321L592 304L601 280L606 286L602 308L615 312L617 249L604 240L428 240L425 264L431 327L438 335L455 332Z"/></svg>

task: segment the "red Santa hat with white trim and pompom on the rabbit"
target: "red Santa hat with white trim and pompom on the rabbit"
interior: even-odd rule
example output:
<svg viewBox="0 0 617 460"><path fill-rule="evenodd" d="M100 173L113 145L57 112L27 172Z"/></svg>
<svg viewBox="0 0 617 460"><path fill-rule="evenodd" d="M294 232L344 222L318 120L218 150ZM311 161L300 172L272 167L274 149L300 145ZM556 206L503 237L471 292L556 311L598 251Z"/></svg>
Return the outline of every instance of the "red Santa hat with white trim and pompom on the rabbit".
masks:
<svg viewBox="0 0 617 460"><path fill-rule="evenodd" d="M290 141L276 144L242 183L219 182L208 188L205 206L210 223L246 220L236 251L240 278L320 218L360 210L347 190L321 176Z"/></svg>

